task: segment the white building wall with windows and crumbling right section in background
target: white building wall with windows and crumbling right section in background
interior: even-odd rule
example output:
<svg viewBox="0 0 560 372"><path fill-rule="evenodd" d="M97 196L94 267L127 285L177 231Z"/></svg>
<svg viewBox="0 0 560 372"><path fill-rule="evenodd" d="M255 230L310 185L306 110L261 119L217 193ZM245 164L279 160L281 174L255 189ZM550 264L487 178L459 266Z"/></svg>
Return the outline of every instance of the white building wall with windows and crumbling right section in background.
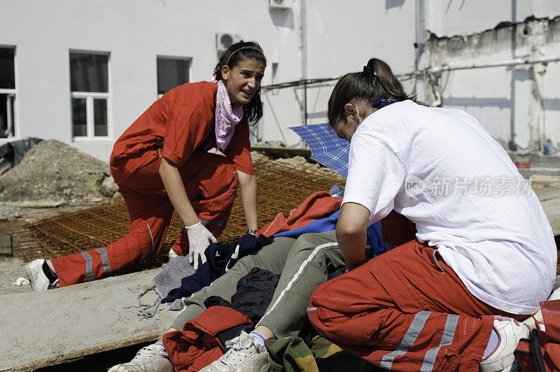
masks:
<svg viewBox="0 0 560 372"><path fill-rule="evenodd" d="M0 142L58 139L101 160L155 99L256 40L255 142L301 146L336 78L370 57L409 92L475 116L510 151L560 148L555 0L0 0ZM548 146L547 146L548 144Z"/></svg>

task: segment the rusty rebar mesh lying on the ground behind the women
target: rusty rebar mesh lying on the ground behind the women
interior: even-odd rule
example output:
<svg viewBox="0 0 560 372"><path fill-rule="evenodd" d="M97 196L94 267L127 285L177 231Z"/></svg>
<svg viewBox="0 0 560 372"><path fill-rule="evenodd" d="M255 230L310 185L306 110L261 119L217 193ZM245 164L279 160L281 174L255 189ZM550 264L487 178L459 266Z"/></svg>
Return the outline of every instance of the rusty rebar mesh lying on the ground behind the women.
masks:
<svg viewBox="0 0 560 372"><path fill-rule="evenodd" d="M286 216L307 196L316 191L328 191L331 186L344 186L344 178L326 168L288 161L258 158L254 160L258 181L259 226L272 221L277 214ZM160 254L153 267L167 261L167 252L176 240L183 224L174 214ZM0 222L0 230L13 237L15 255L25 261L52 258L105 247L126 235L130 220L122 199L63 213L36 221L8 220ZM232 242L246 230L239 195L232 214L220 237Z"/></svg>

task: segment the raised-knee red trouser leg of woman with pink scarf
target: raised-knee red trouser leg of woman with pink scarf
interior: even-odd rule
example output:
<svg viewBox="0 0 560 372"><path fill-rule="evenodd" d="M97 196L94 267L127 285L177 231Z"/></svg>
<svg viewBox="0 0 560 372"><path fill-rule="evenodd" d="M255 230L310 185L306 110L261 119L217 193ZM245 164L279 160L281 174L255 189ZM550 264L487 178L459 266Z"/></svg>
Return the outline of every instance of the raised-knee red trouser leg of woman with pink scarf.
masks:
<svg viewBox="0 0 560 372"><path fill-rule="evenodd" d="M237 173L230 159L195 151L179 169L183 183L202 224L215 236L223 233L237 193ZM188 236L181 230L172 251L188 254Z"/></svg>

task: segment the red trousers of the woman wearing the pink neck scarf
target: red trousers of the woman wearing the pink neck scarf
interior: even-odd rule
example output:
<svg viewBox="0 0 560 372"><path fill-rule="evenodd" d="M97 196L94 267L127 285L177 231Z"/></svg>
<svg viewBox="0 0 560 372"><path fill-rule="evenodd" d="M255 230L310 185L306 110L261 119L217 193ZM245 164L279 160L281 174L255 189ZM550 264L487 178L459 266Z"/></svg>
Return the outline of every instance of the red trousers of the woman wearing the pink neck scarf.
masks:
<svg viewBox="0 0 560 372"><path fill-rule="evenodd" d="M160 252L174 207L159 174L159 152L146 151L134 162L119 162L111 158L111 172L127 205L130 230L107 247L52 259L61 287L130 273L150 265ZM237 174L231 161L195 151L179 173L200 220L211 233L220 235L237 191ZM186 233L181 231L172 248L178 254L188 253Z"/></svg>

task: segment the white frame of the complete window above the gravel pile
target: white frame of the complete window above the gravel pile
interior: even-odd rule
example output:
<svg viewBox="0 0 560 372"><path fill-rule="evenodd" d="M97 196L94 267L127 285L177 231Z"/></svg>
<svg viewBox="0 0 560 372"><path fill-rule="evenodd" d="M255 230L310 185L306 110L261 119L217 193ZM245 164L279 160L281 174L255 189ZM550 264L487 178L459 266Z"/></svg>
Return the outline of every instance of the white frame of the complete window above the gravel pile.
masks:
<svg viewBox="0 0 560 372"><path fill-rule="evenodd" d="M71 66L70 55L76 54L92 54L92 55L106 55L107 56L107 90L108 92L80 92L71 90ZM95 142L95 141L111 141L113 139L113 126L111 125L111 52L101 50L79 50L69 49L68 51L68 76L69 76L69 89L70 89L70 132L73 142ZM73 102L74 98L85 99L85 136L73 135ZM95 135L95 118L94 118L94 99L105 99L107 102L107 135Z"/></svg>

